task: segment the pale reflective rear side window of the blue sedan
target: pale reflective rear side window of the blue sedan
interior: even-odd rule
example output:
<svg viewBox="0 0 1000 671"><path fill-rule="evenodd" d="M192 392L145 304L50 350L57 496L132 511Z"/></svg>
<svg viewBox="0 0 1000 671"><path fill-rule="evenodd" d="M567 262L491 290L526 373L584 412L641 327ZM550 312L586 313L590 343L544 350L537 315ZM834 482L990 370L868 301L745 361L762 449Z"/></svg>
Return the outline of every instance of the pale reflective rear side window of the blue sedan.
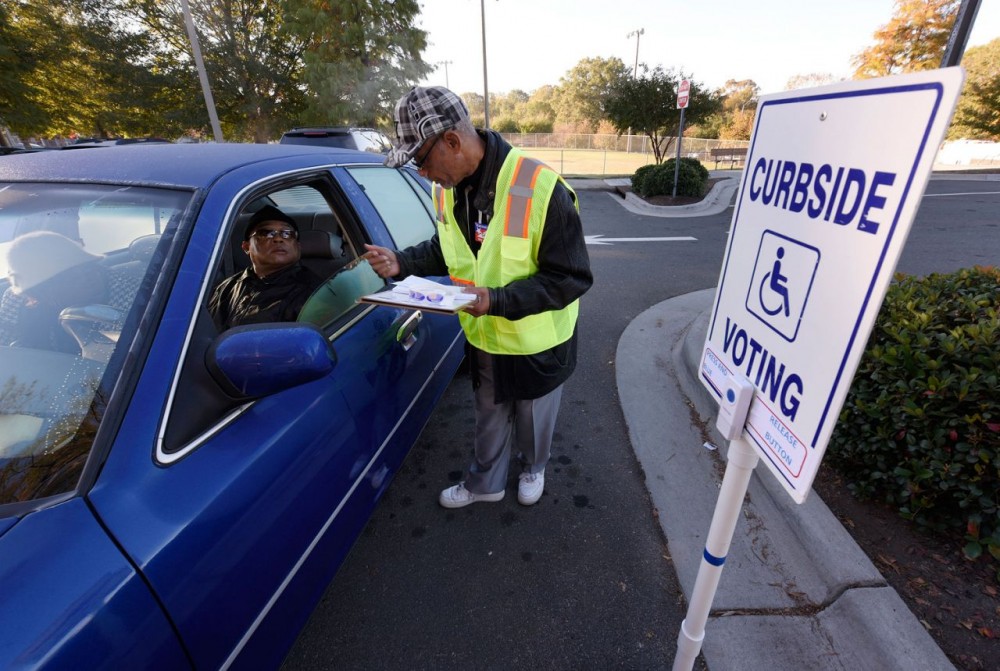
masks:
<svg viewBox="0 0 1000 671"><path fill-rule="evenodd" d="M404 249L434 235L430 194L404 172L381 166L355 167L349 170L360 184L392 235L397 249Z"/></svg>

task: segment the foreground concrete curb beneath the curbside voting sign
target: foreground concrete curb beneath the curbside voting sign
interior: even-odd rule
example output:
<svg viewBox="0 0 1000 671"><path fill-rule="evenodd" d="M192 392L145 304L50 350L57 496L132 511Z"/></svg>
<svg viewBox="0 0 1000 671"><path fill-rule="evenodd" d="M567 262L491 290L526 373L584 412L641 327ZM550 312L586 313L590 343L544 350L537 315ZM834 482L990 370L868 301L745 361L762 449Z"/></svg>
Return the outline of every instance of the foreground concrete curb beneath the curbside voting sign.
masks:
<svg viewBox="0 0 1000 671"><path fill-rule="evenodd" d="M724 470L717 406L697 379L714 295L653 306L625 329L616 356L629 436L688 598ZM794 504L763 467L702 650L713 671L954 668L822 500Z"/></svg>

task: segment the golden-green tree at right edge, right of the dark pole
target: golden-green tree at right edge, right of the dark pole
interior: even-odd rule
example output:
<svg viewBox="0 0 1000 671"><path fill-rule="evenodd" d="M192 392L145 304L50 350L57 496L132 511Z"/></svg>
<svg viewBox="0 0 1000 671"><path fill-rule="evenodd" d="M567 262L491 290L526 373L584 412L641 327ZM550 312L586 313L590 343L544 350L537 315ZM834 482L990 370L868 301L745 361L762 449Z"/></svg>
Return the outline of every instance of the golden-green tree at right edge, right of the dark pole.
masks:
<svg viewBox="0 0 1000 671"><path fill-rule="evenodd" d="M1000 142L1000 38L966 51L962 65L965 86L948 138Z"/></svg>

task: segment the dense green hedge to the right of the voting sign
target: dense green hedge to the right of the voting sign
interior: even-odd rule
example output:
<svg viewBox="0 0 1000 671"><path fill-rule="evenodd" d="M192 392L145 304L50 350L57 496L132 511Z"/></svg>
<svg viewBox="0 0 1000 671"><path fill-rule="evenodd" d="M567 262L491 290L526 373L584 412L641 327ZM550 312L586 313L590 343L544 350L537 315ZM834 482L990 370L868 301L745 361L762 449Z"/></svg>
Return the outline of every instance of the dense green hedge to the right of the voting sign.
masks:
<svg viewBox="0 0 1000 671"><path fill-rule="evenodd" d="M860 498L1000 561L1000 271L897 275L827 452Z"/></svg>

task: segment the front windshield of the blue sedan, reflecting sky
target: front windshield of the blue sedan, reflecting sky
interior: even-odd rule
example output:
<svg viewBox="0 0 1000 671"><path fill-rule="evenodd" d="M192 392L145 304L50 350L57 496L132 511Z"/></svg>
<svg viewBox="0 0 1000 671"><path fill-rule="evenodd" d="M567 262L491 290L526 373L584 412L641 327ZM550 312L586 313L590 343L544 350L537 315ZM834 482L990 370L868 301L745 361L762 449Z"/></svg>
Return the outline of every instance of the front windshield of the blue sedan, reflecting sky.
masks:
<svg viewBox="0 0 1000 671"><path fill-rule="evenodd" d="M191 195L0 183L0 505L76 487Z"/></svg>

